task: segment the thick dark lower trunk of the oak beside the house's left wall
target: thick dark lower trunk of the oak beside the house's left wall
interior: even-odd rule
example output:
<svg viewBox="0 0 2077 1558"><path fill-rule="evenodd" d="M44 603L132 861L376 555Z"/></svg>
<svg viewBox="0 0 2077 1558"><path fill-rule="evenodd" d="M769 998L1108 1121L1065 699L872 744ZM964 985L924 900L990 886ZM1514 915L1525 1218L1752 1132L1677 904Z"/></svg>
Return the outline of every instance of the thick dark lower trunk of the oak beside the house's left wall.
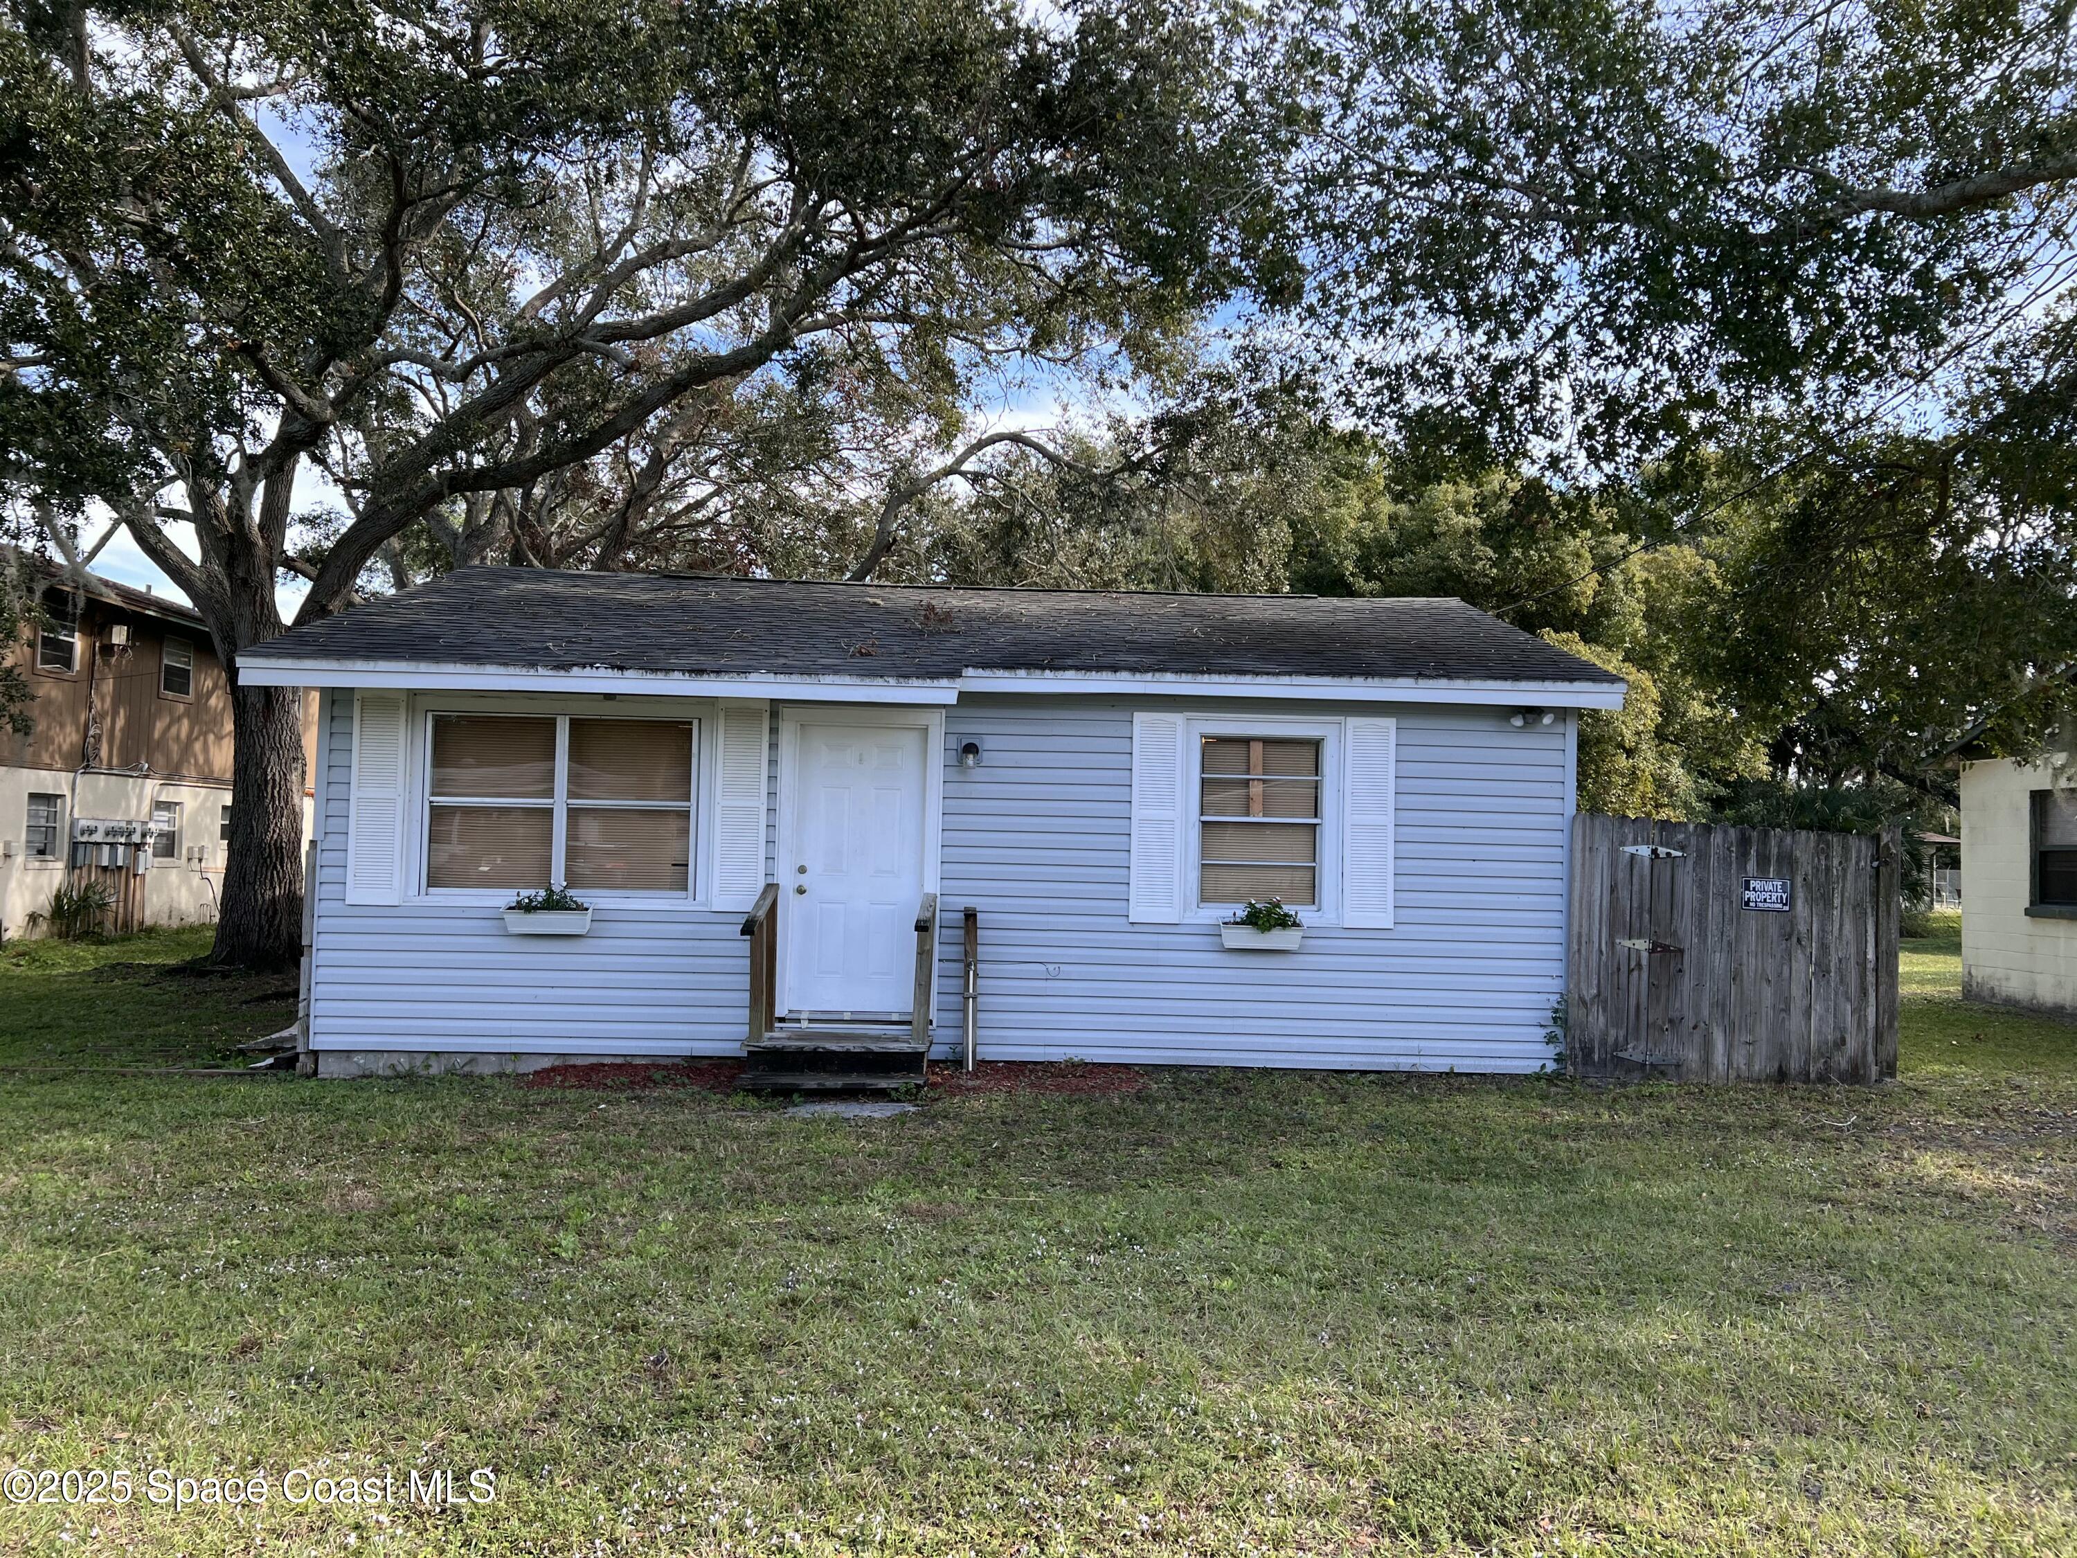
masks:
<svg viewBox="0 0 2077 1558"><path fill-rule="evenodd" d="M212 964L295 968L303 956L303 694L233 681L231 856Z"/></svg>

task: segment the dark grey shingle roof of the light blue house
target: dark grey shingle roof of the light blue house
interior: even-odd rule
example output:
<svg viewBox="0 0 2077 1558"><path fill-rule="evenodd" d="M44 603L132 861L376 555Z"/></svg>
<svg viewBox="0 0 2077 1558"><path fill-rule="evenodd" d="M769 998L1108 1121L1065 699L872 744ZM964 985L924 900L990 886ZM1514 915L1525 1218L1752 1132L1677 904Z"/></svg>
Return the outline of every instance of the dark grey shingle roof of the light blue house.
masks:
<svg viewBox="0 0 2077 1558"><path fill-rule="evenodd" d="M949 679L962 671L1620 677L1462 600L953 590L471 567L297 627L270 661Z"/></svg>

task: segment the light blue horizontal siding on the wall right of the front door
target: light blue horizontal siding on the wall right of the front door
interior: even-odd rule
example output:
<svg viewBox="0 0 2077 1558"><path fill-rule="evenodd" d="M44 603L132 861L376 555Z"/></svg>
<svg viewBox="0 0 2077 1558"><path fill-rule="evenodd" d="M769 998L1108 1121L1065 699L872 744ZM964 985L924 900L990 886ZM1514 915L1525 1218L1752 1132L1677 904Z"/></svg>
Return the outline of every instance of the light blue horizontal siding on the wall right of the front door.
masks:
<svg viewBox="0 0 2077 1558"><path fill-rule="evenodd" d="M1228 951L1211 922L1138 918L1134 729L1147 713L991 694L947 715L947 746L978 740L987 754L947 769L941 887L947 926L980 910L987 1059L1549 1064L1564 989L1564 725L1514 729L1504 708L1319 708L1352 748L1340 764L1350 804L1329 802L1350 833L1344 877L1375 872L1379 854L1390 868L1346 895L1340 922L1304 916L1298 951ZM1213 723L1263 727L1275 713L1234 704ZM1379 746L1392 748L1383 771ZM1354 912L1390 912L1392 924L1348 924ZM939 1010L957 1012L957 937L945 943Z"/></svg>

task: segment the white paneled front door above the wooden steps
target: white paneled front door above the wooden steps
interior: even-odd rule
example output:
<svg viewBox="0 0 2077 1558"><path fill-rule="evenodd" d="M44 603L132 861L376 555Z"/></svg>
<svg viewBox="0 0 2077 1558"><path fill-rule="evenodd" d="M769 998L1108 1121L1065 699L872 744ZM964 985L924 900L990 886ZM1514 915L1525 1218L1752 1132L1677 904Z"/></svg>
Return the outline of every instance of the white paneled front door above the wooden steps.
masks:
<svg viewBox="0 0 2077 1558"><path fill-rule="evenodd" d="M889 1016L914 1001L926 742L916 725L798 725L779 862L793 1016Z"/></svg>

